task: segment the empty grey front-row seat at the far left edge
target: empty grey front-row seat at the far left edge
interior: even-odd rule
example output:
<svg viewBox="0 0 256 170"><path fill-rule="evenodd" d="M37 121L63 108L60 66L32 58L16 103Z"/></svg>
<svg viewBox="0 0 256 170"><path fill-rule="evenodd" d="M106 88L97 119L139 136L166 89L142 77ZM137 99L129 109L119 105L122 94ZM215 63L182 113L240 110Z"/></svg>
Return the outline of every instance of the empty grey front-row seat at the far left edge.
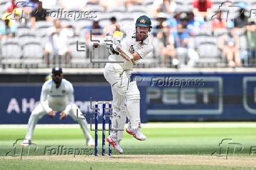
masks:
<svg viewBox="0 0 256 170"><path fill-rule="evenodd" d="M17 40L1 43L2 65L5 67L21 67L22 50Z"/></svg>

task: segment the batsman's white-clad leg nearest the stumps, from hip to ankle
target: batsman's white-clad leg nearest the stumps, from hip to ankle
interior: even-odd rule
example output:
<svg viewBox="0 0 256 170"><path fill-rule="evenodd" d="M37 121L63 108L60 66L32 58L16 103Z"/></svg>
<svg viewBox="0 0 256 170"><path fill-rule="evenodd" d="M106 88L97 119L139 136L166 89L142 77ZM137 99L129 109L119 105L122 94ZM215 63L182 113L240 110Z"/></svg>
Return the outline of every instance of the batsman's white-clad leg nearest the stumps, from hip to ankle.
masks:
<svg viewBox="0 0 256 170"><path fill-rule="evenodd" d="M129 75L128 75L129 76ZM110 83L113 95L112 129L123 130L126 123L126 93L130 79L118 63L107 63L104 77ZM112 131L111 137L117 142L122 140L123 131Z"/></svg>

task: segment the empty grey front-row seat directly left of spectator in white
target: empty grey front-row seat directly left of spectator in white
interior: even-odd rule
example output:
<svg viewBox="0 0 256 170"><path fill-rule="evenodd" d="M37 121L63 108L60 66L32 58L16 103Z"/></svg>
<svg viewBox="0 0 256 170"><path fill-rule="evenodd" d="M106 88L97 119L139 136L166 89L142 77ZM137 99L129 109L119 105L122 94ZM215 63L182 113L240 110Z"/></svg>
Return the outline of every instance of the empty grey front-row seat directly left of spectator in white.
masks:
<svg viewBox="0 0 256 170"><path fill-rule="evenodd" d="M43 62L43 47L40 42L28 42L22 47L23 62L26 67L42 67Z"/></svg>

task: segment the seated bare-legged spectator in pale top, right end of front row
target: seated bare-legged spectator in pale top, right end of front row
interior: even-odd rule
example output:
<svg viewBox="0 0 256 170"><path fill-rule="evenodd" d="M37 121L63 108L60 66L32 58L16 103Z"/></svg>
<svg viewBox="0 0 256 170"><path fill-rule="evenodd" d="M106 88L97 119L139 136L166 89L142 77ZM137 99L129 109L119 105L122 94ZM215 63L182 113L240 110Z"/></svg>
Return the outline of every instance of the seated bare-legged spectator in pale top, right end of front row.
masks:
<svg viewBox="0 0 256 170"><path fill-rule="evenodd" d="M229 67L241 66L239 37L235 34L233 26L228 23L228 33L220 38L220 49L227 58Z"/></svg>

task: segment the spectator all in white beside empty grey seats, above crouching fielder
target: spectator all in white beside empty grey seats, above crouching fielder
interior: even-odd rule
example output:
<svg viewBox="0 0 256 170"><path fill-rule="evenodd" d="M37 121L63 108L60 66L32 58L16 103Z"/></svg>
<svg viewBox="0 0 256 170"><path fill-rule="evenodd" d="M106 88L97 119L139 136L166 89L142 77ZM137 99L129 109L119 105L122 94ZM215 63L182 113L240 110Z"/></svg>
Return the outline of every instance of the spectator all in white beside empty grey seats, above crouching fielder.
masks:
<svg viewBox="0 0 256 170"><path fill-rule="evenodd" d="M60 20L54 21L54 26L48 28L49 42L45 45L46 63L50 63L50 54L53 56L65 56L66 64L70 61L70 52L68 49L68 38L75 35L75 31L70 30L72 26L61 26ZM52 58L53 59L53 58Z"/></svg>

